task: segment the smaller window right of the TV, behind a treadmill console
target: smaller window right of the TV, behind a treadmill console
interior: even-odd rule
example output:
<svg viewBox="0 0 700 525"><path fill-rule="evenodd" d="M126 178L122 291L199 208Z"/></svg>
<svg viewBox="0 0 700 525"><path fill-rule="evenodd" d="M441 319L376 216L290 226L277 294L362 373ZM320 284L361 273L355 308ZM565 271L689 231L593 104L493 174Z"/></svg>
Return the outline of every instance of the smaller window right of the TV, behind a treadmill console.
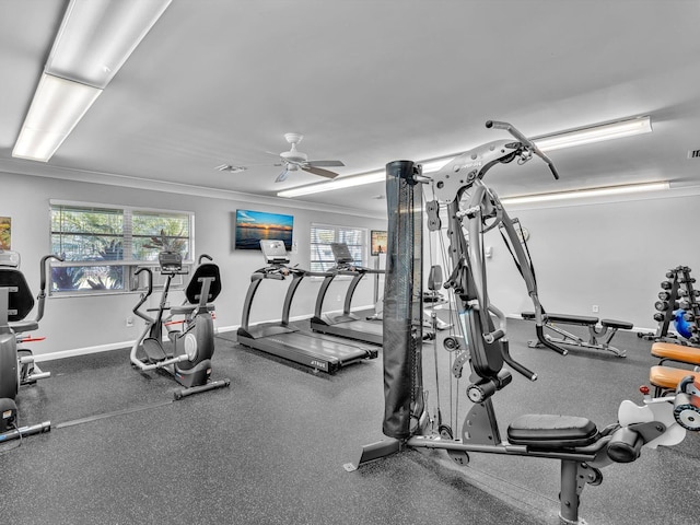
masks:
<svg viewBox="0 0 700 525"><path fill-rule="evenodd" d="M364 266L368 232L362 228L311 225L311 270L326 271L336 264L330 243L346 243L354 264Z"/></svg>

